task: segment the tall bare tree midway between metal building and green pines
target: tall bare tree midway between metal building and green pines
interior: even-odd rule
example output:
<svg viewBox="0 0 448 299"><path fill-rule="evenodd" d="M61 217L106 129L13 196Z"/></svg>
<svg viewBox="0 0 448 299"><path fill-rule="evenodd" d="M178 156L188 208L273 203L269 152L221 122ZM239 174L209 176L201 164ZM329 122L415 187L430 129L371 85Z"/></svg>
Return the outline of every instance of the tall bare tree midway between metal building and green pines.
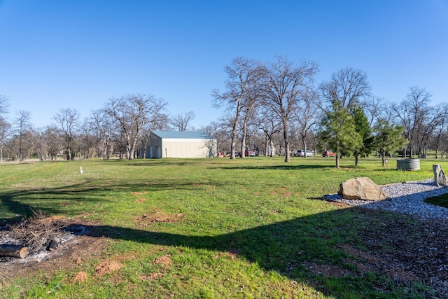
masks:
<svg viewBox="0 0 448 299"><path fill-rule="evenodd" d="M286 57L277 57L276 62L265 67L263 90L264 104L281 120L285 144L285 162L290 161L288 126L298 107L303 90L311 89L318 71L314 62L293 64Z"/></svg>

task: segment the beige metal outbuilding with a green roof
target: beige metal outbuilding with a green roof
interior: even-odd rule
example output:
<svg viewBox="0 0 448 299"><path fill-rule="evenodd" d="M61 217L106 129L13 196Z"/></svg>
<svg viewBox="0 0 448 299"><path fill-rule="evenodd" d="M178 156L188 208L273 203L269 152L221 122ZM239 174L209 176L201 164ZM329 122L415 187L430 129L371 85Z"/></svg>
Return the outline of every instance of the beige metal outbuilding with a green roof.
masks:
<svg viewBox="0 0 448 299"><path fill-rule="evenodd" d="M204 132L151 131L146 158L207 158L218 155L218 141Z"/></svg>

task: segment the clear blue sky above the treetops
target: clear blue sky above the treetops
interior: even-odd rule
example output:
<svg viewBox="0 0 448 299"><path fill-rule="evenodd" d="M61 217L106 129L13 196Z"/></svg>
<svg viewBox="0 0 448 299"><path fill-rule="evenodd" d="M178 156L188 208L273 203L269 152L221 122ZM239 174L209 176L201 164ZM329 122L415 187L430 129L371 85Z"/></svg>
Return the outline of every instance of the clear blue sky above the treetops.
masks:
<svg viewBox="0 0 448 299"><path fill-rule="evenodd" d="M211 90L223 90L225 65L276 55L317 62L318 83L349 66L389 102L414 85L446 102L448 0L0 0L0 95L10 120L31 111L36 127L128 93L208 125L223 114Z"/></svg>

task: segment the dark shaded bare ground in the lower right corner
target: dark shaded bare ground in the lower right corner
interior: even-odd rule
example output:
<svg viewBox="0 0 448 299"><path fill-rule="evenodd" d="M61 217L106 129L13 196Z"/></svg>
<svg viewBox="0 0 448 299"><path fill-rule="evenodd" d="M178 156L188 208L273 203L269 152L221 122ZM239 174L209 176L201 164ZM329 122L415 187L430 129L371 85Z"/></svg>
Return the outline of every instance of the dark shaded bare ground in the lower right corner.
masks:
<svg viewBox="0 0 448 299"><path fill-rule="evenodd" d="M448 298L448 220L409 220L357 210L366 216L374 214L370 223L357 230L358 240L368 252L346 244L339 249L354 257L353 264L360 272L383 274L405 287L421 281L435 290L437 298Z"/></svg>

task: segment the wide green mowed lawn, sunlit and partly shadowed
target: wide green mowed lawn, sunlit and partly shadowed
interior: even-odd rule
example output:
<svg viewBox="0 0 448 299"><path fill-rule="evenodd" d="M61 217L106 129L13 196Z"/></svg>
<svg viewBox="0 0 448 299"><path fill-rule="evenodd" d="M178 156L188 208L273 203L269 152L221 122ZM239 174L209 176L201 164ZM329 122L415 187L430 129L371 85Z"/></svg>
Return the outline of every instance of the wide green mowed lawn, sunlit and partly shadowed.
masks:
<svg viewBox="0 0 448 299"><path fill-rule="evenodd" d="M374 214L328 204L322 195L358 176L379 184L429 179L434 161L422 160L418 172L397 171L394 160L383 168L376 158L359 167L344 159L340 169L332 158L285 163L281 157L5 163L3 223L43 211L93 221L111 244L74 271L8 281L0 298L409 296L409 289L375 273L329 277L305 265L356 272L338 245L362 248L356 229L374 222ZM118 257L119 270L92 275L101 260ZM169 265L155 263L163 257ZM73 281L78 272L89 278ZM418 298L419 290L412 295Z"/></svg>

